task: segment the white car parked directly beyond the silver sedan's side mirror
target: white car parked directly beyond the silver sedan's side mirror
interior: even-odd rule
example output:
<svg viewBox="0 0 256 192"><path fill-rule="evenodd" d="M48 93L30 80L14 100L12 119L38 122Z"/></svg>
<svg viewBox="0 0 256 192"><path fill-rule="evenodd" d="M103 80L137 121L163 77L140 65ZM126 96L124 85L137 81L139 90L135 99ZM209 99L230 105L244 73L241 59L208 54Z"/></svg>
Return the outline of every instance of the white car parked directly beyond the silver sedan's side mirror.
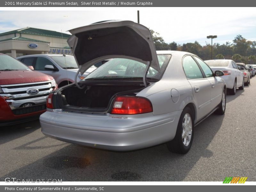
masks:
<svg viewBox="0 0 256 192"><path fill-rule="evenodd" d="M222 76L222 79L226 82L231 95L236 94L236 88L244 89L244 74L233 60L219 59L206 60L204 62L209 65L213 72L216 70L223 71L224 76Z"/></svg>

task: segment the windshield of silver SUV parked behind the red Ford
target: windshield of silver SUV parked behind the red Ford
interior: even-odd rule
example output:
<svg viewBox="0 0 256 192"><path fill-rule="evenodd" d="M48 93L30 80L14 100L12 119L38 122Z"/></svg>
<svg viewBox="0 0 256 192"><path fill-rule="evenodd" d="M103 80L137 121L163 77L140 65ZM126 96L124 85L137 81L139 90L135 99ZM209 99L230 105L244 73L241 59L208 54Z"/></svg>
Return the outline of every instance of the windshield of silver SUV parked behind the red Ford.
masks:
<svg viewBox="0 0 256 192"><path fill-rule="evenodd" d="M51 58L61 67L67 69L77 69L76 60L73 56L51 56Z"/></svg>

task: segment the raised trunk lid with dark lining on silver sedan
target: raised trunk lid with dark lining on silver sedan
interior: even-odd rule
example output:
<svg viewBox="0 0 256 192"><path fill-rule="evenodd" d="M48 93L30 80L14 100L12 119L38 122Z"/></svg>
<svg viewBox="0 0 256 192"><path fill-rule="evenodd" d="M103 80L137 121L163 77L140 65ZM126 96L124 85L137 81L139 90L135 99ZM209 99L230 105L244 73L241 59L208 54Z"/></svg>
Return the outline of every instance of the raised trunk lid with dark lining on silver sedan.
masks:
<svg viewBox="0 0 256 192"><path fill-rule="evenodd" d="M93 64L110 58L137 60L160 72L148 28L132 21L111 20L69 30L68 44L83 74ZM146 78L146 77L145 77Z"/></svg>

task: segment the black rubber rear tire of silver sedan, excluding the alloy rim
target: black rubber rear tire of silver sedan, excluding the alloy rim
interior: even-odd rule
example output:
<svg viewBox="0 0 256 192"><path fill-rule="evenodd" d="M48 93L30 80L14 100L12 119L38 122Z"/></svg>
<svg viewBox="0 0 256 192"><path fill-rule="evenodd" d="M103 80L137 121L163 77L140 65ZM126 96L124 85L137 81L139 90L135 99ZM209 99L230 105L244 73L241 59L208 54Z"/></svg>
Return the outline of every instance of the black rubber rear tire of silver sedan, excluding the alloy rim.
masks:
<svg viewBox="0 0 256 192"><path fill-rule="evenodd" d="M184 140L182 139L182 132L183 132L182 124L185 119L185 115L187 115L187 114L189 114L190 121L192 122L192 127L191 127L192 132L191 132L191 134L189 134L189 132L188 132L188 134L191 135L191 138L189 140L188 145L186 146L186 145L184 145L184 143L183 143ZM178 153L178 154L188 153L189 149L191 148L193 137L194 137L194 118L195 118L195 114L191 110L191 108L185 107L180 115L180 119L179 119L179 123L177 126L177 130L176 130L174 139L166 143L169 151L171 151L173 153Z"/></svg>

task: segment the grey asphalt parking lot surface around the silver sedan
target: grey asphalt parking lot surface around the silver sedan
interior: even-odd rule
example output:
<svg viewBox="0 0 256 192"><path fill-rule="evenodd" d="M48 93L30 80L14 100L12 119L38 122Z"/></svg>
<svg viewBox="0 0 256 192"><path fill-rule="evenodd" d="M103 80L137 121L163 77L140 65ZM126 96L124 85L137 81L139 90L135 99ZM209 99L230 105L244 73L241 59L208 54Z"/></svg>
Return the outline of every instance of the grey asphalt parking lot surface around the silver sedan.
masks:
<svg viewBox="0 0 256 192"><path fill-rule="evenodd" d="M227 95L224 116L211 115L195 128L186 155L165 144L130 152L88 148L47 138L39 120L0 128L0 181L256 181L256 77Z"/></svg>

